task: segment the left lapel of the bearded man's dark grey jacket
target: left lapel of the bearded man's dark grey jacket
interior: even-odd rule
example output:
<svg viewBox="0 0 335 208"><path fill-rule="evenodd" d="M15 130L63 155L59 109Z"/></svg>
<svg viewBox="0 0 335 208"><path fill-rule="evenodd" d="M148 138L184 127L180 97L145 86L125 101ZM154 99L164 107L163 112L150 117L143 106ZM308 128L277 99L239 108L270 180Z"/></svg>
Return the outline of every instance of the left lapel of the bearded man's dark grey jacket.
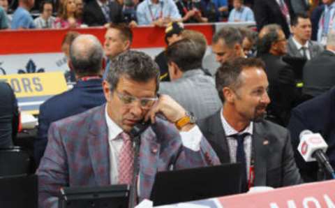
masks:
<svg viewBox="0 0 335 208"><path fill-rule="evenodd" d="M209 119L209 132L211 137L211 146L216 151L221 163L230 163L230 154L228 149L228 141L225 137L225 130L221 121L221 110L216 112L211 119Z"/></svg>

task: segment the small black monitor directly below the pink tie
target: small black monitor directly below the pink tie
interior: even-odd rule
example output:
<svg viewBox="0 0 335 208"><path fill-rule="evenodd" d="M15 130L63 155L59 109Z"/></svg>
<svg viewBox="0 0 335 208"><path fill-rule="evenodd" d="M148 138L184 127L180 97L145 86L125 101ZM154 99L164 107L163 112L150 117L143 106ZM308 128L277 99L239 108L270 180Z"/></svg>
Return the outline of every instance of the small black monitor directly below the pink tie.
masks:
<svg viewBox="0 0 335 208"><path fill-rule="evenodd" d="M65 187L59 195L59 208L128 208L128 185Z"/></svg>

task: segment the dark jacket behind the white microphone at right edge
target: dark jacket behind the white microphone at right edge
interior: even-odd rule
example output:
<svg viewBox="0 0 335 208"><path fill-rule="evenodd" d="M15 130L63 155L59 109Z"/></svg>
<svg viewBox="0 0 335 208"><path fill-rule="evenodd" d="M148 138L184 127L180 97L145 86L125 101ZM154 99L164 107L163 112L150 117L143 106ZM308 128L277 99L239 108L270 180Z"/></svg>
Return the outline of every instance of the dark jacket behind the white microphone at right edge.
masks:
<svg viewBox="0 0 335 208"><path fill-rule="evenodd" d="M292 110L290 129L295 159L304 181L316 181L318 164L306 163L297 151L299 134L306 129L320 133L329 145L327 156L335 168L335 88L310 101L298 105Z"/></svg>

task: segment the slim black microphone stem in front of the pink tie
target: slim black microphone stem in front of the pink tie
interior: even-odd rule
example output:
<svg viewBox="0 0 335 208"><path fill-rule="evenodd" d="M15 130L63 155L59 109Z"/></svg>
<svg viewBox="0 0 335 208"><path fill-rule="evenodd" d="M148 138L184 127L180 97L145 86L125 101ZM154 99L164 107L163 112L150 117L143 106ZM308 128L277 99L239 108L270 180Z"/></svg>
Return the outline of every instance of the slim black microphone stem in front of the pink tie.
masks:
<svg viewBox="0 0 335 208"><path fill-rule="evenodd" d="M133 208L136 205L136 192L137 192L137 176L140 172L140 144L141 139L140 135L133 138L133 147L134 147L134 171L133 171L133 180L131 181L131 191L129 195L129 208Z"/></svg>

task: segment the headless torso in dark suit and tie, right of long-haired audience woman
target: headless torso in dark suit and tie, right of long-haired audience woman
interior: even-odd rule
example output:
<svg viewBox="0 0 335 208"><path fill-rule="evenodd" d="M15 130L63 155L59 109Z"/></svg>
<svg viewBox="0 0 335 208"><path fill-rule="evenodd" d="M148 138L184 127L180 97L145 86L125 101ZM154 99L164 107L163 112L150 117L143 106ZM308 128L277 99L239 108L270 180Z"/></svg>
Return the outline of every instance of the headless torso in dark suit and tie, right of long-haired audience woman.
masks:
<svg viewBox="0 0 335 208"><path fill-rule="evenodd" d="M122 6L118 1L91 0L84 6L82 16L84 24L91 26L103 26L107 23L124 22Z"/></svg>

